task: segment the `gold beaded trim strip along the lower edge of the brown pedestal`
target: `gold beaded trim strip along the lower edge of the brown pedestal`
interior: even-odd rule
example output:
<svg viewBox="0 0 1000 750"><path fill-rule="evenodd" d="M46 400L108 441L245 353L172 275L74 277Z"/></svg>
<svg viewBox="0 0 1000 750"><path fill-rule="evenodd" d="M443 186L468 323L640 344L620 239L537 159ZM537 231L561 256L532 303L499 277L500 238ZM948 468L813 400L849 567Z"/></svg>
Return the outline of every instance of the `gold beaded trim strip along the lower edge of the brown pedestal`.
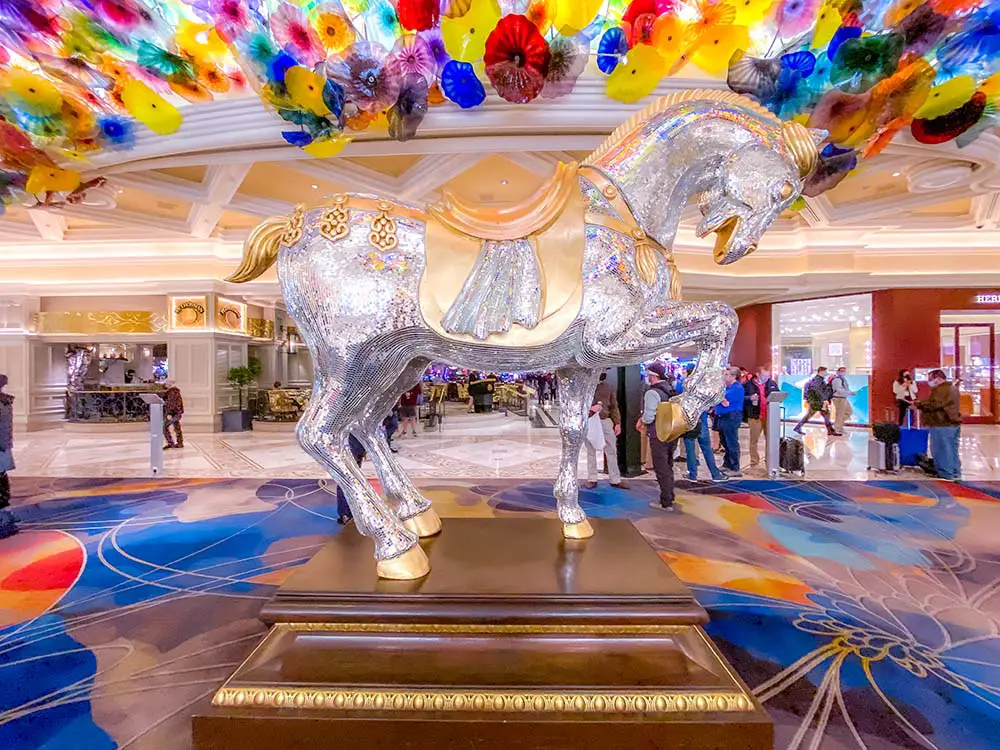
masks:
<svg viewBox="0 0 1000 750"><path fill-rule="evenodd" d="M224 686L214 706L348 711L669 714L752 711L742 692L535 692L471 690L333 690Z"/></svg>

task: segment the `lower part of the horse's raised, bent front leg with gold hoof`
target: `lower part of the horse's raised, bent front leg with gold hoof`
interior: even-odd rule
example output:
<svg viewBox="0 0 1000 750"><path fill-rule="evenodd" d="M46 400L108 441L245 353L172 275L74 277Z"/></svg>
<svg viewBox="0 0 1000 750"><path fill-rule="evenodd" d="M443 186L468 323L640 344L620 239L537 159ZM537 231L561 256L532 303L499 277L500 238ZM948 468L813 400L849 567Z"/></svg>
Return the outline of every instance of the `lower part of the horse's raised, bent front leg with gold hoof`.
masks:
<svg viewBox="0 0 1000 750"><path fill-rule="evenodd" d="M671 439L694 428L701 413L722 400L722 371L739 326L739 318L729 305L705 302L698 306L702 308L698 316L701 326L691 335L699 350L698 364L684 381L684 392L672 402ZM756 367L756 363L751 366Z"/></svg>

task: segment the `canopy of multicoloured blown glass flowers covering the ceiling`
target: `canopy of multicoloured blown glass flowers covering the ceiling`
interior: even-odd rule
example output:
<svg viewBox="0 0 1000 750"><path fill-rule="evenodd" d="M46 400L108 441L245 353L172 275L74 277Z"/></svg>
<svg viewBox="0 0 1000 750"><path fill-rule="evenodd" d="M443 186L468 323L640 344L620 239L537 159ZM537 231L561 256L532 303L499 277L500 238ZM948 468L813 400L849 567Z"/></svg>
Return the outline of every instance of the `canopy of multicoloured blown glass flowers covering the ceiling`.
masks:
<svg viewBox="0 0 1000 750"><path fill-rule="evenodd" d="M330 156L488 89L559 106L588 65L619 101L696 68L829 131L816 194L900 130L997 124L1000 0L0 0L0 203L72 196L88 154L187 103L252 91Z"/></svg>

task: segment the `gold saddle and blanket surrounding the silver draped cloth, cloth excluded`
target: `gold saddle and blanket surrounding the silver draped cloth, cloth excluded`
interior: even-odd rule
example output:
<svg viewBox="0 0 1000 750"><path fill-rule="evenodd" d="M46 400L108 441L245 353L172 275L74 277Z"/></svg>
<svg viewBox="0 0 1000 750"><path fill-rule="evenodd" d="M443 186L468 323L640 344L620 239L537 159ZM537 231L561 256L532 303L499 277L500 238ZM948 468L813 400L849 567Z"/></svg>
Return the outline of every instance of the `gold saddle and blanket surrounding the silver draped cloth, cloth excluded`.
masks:
<svg viewBox="0 0 1000 750"><path fill-rule="evenodd" d="M446 194L427 209L425 268L420 309L427 324L453 341L495 346L540 346L554 341L576 319L583 298L585 205L577 165L560 163L553 176L520 204L497 208L459 201ZM537 322L514 322L488 335L456 332L445 323L460 295L476 283L477 261L490 243L528 242L541 288ZM481 282L480 282L481 283ZM513 308L508 290L478 289L493 305ZM460 301L458 304L462 304ZM449 330L449 328L451 330Z"/></svg>

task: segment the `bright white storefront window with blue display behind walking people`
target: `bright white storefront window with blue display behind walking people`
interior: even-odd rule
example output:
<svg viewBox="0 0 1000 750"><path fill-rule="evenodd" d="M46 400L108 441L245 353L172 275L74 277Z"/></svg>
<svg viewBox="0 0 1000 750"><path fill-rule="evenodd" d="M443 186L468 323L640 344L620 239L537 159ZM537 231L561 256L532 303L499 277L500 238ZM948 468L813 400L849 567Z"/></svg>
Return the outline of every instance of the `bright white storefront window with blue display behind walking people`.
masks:
<svg viewBox="0 0 1000 750"><path fill-rule="evenodd" d="M870 422L872 370L872 298L870 294L782 302L772 308L772 368L781 390L789 393L785 419L804 411L803 390L820 366L828 377L847 368L851 423Z"/></svg>

